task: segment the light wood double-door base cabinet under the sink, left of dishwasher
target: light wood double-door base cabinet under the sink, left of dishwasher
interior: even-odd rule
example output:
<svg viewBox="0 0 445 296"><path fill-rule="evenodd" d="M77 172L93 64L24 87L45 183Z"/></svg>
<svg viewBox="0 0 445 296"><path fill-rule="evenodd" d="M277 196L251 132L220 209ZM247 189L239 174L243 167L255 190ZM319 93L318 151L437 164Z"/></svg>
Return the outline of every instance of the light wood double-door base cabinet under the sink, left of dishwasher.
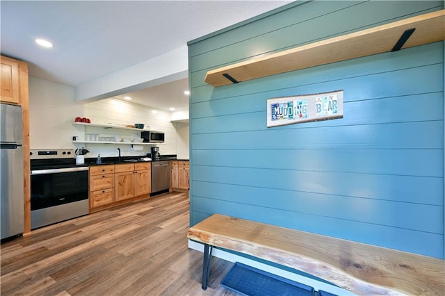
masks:
<svg viewBox="0 0 445 296"><path fill-rule="evenodd" d="M152 188L151 163L115 165L116 202L149 195Z"/></svg>

